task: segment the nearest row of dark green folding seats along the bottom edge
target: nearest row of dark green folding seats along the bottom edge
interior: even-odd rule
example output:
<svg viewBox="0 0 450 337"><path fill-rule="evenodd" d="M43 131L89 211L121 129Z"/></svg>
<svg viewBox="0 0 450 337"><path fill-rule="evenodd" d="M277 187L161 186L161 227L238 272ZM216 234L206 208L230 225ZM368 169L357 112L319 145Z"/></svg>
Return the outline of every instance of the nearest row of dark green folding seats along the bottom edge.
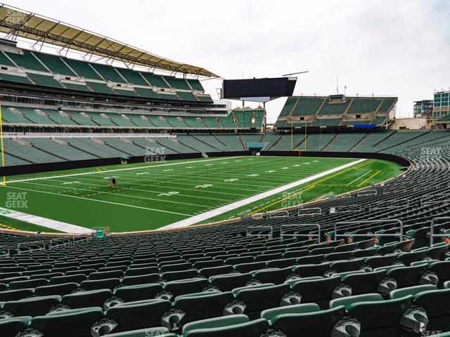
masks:
<svg viewBox="0 0 450 337"><path fill-rule="evenodd" d="M236 298L245 300L255 297L252 291L259 291L259 296L263 296L252 303L258 312L253 319L237 313L238 310L233 312L229 307L227 303L233 300L233 293L207 293L180 296L175 307L167 300L139 300L104 311L91 307L35 317L13 317L1 320L0 329L4 333L2 336L6 337L15 337L27 330L45 337L431 336L435 332L450 330L450 310L446 305L450 300L450 289L416 286L402 293L393 291L387 300L376 293L369 293L332 300L329 308L320 308L314 303L266 308L283 301L282 293L274 289L274 286L264 286L236 293ZM49 307L55 299L50 296L42 298L40 303L35 303L35 308ZM238 305L239 302L234 308Z"/></svg>

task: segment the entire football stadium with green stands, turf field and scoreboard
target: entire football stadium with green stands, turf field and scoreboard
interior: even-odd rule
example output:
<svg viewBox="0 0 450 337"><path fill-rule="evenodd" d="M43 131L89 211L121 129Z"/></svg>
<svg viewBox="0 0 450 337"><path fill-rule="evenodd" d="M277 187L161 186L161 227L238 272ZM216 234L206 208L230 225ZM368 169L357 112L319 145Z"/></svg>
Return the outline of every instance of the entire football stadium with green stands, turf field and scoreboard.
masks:
<svg viewBox="0 0 450 337"><path fill-rule="evenodd" d="M401 118L45 14L0 4L1 337L450 336L450 91Z"/></svg>

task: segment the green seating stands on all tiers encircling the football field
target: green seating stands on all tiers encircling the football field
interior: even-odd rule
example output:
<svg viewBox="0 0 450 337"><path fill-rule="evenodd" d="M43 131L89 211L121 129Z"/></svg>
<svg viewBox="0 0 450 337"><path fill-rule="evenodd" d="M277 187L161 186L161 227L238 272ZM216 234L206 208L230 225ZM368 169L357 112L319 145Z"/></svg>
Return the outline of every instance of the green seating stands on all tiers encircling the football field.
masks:
<svg viewBox="0 0 450 337"><path fill-rule="evenodd" d="M385 129L397 98L288 98L275 132L263 132L264 110L219 111L198 79L38 51L0 51L0 64L2 84L18 87L1 109L7 166L248 143L412 165L371 193L321 200L306 218L297 208L101 238L1 232L2 337L448 336L450 223L437 225L435 244L430 225L450 216L438 197L449 191L450 133ZM286 227L299 223L314 225Z"/></svg>

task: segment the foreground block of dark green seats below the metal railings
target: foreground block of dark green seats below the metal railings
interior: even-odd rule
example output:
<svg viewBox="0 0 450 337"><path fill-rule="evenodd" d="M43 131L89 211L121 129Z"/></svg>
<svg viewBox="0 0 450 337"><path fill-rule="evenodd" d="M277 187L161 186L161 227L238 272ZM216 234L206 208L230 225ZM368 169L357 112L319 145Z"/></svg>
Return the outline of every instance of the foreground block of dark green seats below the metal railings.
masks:
<svg viewBox="0 0 450 337"><path fill-rule="evenodd" d="M0 234L10 251L0 260L0 329L7 337L25 330L73 337L450 331L449 244L319 244L247 237L247 226L70 245L62 237L51 250L37 249L32 237Z"/></svg>

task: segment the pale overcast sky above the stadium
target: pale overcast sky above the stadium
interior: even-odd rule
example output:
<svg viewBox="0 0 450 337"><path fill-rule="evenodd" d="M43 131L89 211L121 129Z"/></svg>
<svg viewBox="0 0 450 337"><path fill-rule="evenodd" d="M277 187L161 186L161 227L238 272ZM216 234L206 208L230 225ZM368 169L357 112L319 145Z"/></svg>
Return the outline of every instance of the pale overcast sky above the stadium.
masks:
<svg viewBox="0 0 450 337"><path fill-rule="evenodd" d="M299 76L295 94L397 95L450 87L450 1L55 1L7 4L89 29L226 79ZM221 81L203 81L217 98ZM285 98L267 105L275 121ZM236 102L235 105L240 105ZM248 104L250 105L250 104Z"/></svg>

